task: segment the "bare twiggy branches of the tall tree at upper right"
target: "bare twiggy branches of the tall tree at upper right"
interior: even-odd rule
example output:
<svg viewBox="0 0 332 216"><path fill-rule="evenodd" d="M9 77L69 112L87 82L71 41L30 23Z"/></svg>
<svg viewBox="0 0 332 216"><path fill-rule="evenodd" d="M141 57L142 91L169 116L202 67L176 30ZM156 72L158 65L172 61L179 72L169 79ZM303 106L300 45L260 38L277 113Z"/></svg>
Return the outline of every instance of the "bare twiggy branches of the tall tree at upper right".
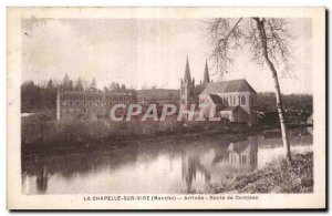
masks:
<svg viewBox="0 0 332 216"><path fill-rule="evenodd" d="M262 43L259 21L263 22L267 38L266 48ZM211 58L221 75L228 70L238 50L246 49L251 60L262 65L264 49L274 66L282 72L291 70L289 43L292 39L287 19L281 18L217 18L208 23L208 34L212 45Z"/></svg>

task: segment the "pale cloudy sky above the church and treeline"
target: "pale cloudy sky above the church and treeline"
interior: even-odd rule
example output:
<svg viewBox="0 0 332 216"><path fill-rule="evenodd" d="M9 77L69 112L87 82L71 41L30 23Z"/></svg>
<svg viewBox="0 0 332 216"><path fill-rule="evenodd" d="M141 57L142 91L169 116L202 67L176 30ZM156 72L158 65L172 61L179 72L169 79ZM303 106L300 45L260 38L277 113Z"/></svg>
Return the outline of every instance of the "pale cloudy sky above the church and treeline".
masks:
<svg viewBox="0 0 332 216"><path fill-rule="evenodd" d="M212 68L206 20L198 19L24 19L22 22L22 82L96 79L127 88L179 89L188 55L191 76L203 80L205 61ZM310 19L292 19L294 40L291 75L280 74L283 93L312 93L312 32ZM257 92L273 91L270 71L237 52L224 80L246 79ZM212 75L215 74L215 75Z"/></svg>

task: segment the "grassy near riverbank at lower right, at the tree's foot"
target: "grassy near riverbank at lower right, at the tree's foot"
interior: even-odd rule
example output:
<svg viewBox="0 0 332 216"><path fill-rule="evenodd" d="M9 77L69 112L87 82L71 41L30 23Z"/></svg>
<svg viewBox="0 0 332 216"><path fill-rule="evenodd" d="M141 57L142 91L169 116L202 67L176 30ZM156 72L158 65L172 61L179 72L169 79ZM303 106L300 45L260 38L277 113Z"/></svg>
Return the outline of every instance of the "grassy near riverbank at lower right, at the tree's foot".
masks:
<svg viewBox="0 0 332 216"><path fill-rule="evenodd" d="M313 153L293 154L292 167L286 158L268 163L263 168L251 173L229 176L228 182L214 185L206 193L312 193Z"/></svg>

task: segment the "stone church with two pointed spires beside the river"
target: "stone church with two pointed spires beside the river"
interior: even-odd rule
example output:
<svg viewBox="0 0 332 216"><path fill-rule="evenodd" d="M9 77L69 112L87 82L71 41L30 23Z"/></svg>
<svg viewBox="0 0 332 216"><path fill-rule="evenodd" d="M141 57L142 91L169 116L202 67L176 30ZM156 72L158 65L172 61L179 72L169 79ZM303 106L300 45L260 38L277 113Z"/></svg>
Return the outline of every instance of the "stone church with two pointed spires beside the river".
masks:
<svg viewBox="0 0 332 216"><path fill-rule="evenodd" d="M185 75L180 80L180 103L187 109L191 104L205 104L207 109L215 105L216 114L229 123L257 124L257 92L245 79L211 82L207 61L203 82L196 85L187 58Z"/></svg>

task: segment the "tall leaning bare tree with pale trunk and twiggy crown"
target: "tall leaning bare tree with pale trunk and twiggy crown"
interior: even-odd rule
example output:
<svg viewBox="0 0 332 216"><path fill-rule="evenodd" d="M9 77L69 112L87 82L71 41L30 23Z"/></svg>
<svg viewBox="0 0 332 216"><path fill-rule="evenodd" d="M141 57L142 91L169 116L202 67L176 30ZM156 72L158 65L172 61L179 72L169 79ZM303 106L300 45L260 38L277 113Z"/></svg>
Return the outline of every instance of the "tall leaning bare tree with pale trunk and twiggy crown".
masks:
<svg viewBox="0 0 332 216"><path fill-rule="evenodd" d="M276 18L218 18L208 22L210 42L214 47L212 59L217 71L222 76L232 63L232 54L237 50L248 48L252 60L268 66L274 83L277 111L280 119L282 142L287 161L291 164L290 143L284 123L284 111L281 100L278 72L290 69L289 40L291 33L287 19Z"/></svg>

